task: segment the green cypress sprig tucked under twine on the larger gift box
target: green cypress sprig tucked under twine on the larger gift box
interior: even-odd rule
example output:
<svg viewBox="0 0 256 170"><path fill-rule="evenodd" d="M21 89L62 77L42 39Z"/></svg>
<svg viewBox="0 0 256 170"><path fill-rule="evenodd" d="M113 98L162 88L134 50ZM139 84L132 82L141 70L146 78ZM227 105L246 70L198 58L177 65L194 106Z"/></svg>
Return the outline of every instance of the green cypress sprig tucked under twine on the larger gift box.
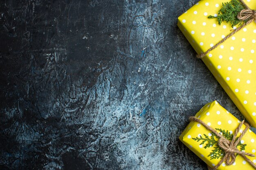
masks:
<svg viewBox="0 0 256 170"><path fill-rule="evenodd" d="M230 2L222 3L222 8L219 10L217 16L210 15L208 18L217 18L218 23L226 21L231 23L232 28L236 25L242 25L243 21L237 18L237 15L240 11L246 9L239 0L231 0ZM248 20L245 20L247 22Z"/></svg>

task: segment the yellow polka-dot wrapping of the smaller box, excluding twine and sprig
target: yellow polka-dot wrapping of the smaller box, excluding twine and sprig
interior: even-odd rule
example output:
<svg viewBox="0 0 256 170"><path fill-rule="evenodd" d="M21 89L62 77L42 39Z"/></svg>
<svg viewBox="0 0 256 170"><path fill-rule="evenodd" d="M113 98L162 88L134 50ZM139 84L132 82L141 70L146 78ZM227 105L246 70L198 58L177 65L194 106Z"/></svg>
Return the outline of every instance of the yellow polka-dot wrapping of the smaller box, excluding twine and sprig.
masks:
<svg viewBox="0 0 256 170"><path fill-rule="evenodd" d="M231 113L229 113L225 108L220 106L218 102L214 101L209 104L206 104L196 115L198 119L204 121L207 125L211 126L213 129L222 129L230 134L233 134L236 128L241 123L236 117L234 117ZM245 125L242 126L241 130L245 129ZM217 130L218 131L218 130ZM242 131L240 131L242 132ZM240 136L240 132L238 136ZM211 168L217 165L221 158L219 159L211 159L211 154L217 144L214 144L211 147L204 148L207 145L207 141L200 145L202 141L195 140L196 138L206 138L209 137L211 139L212 132L199 124L196 121L191 121L189 125L185 128L185 130L180 135L180 140L190 149L192 150L198 157L200 157L208 166ZM221 135L223 135L220 132ZM229 135L230 135L229 134ZM205 136L206 135L206 136ZM215 138L218 140L218 138ZM240 141L241 144L245 145L244 151L247 153L255 154L256 152L256 135L252 130L247 130L245 135L242 137ZM242 146L242 145L241 145ZM241 146L237 148L240 149ZM253 163L256 163L256 157L248 157ZM240 155L236 157L236 161L233 165L227 166L224 163L220 165L218 170L254 170L254 168L249 165L247 161Z"/></svg>

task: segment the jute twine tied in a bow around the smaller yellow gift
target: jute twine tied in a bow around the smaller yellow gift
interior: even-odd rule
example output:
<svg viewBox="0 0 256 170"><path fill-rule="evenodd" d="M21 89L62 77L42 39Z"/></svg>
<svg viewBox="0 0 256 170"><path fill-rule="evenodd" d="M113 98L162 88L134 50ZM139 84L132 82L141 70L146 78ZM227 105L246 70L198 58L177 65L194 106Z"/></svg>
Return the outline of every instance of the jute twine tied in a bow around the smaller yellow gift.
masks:
<svg viewBox="0 0 256 170"><path fill-rule="evenodd" d="M196 117L189 117L189 120L196 121L196 122L202 124L205 128L207 128L211 132L213 132L219 138L218 146L220 148L222 148L222 150L224 150L224 152L225 152L225 156L220 160L220 162L216 166L214 166L213 168L208 166L209 170L216 170L224 161L226 162L227 166L232 165L236 161L236 154L243 157L254 169L256 169L256 165L249 158L246 157L246 156L255 157L255 155L251 154L251 153L240 151L240 150L238 150L238 148L236 148L236 146L240 143L242 137L245 135L245 133L249 129L249 125L245 123L245 120L243 120L239 124L238 128L236 128L236 132L234 133L234 137L231 141L229 141L228 139L226 139L225 137L220 135L215 129L213 129L213 128L211 128L211 126L208 126L207 124L205 124L202 120L200 120ZM243 130L243 132L241 132L241 135L238 137L238 139L236 139L238 132L240 131L243 124L245 124L246 127Z"/></svg>

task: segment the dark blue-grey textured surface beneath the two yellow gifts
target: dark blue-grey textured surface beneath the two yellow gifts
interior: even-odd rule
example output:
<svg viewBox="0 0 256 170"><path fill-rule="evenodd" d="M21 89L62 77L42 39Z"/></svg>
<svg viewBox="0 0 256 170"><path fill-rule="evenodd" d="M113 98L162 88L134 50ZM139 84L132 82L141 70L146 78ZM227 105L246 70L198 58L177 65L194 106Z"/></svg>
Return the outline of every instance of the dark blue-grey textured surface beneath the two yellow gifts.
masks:
<svg viewBox="0 0 256 170"><path fill-rule="evenodd" d="M1 170L206 170L178 136L243 119L177 28L197 0L2 0Z"/></svg>

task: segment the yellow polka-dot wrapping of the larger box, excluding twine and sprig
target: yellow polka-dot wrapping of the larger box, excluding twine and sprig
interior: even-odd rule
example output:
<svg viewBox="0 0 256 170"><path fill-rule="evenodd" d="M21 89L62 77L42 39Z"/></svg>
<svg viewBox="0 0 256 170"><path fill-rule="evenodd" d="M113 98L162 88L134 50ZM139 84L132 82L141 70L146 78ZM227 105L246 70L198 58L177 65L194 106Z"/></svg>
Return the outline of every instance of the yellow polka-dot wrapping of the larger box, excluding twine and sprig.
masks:
<svg viewBox="0 0 256 170"><path fill-rule="evenodd" d="M208 18L216 16L227 1L200 0L178 18L178 27L198 54L231 33L231 24L219 25L216 18ZM256 9L256 0L244 1ZM256 127L256 23L245 26L202 60L247 121Z"/></svg>

